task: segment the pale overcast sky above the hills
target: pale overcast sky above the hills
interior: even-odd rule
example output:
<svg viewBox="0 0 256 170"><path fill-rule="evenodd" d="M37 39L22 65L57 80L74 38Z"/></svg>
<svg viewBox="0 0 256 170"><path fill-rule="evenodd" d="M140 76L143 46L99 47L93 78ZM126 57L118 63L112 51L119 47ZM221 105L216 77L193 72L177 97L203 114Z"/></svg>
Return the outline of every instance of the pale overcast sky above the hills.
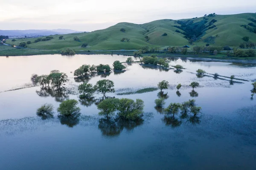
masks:
<svg viewBox="0 0 256 170"><path fill-rule="evenodd" d="M0 0L0 29L93 31L204 14L256 12L256 0Z"/></svg>

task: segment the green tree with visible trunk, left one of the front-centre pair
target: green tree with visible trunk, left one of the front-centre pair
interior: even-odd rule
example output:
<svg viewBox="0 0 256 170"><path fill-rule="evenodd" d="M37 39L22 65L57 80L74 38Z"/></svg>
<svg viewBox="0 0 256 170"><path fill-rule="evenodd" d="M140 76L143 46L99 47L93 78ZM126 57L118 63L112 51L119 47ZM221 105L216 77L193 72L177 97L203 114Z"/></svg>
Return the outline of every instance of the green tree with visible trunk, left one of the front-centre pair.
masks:
<svg viewBox="0 0 256 170"><path fill-rule="evenodd" d="M114 115L119 99L107 98L100 102L97 108L100 110L99 115L105 115L107 118L109 115Z"/></svg>

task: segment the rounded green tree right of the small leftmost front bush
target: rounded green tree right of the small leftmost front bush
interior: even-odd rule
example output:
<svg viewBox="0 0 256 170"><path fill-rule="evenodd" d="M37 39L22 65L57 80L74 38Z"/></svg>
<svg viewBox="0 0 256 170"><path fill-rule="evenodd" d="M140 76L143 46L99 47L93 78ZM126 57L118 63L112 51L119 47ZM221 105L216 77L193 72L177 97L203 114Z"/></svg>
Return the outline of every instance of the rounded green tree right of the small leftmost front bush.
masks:
<svg viewBox="0 0 256 170"><path fill-rule="evenodd" d="M74 99L63 101L58 107L57 111L58 113L64 116L73 116L73 115L80 114L81 109L76 106L77 104L78 104L78 101Z"/></svg>

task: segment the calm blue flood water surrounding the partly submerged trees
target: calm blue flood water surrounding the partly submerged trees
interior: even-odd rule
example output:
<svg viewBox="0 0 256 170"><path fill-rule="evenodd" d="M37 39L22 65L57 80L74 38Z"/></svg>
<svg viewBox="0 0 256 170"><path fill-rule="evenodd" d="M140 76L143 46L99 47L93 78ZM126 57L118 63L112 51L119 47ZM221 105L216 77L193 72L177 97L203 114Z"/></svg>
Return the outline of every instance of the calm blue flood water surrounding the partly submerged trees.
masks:
<svg viewBox="0 0 256 170"><path fill-rule="evenodd" d="M256 80L256 67L221 62L193 62L173 60L186 69L180 74L174 70L145 67L138 63L126 65L123 73L95 75L87 80L91 84L107 78L115 83L116 98L140 98L145 103L144 121L137 124L105 126L98 116L93 101L79 102L81 118L67 122L57 118L56 109L67 98L78 100L76 92L81 80L74 79L73 71L82 64L125 61L125 56L61 55L21 56L0 58L0 169L2 170L170 170L170 169L256 169L256 97L250 98L252 81ZM139 60L139 59L134 59ZM227 80L212 77L197 78L195 71L248 81L230 85ZM53 69L67 73L70 81L67 92L49 94L41 87L30 87L30 76L49 74ZM198 123L186 119L174 127L163 120L164 115L154 109L158 91L134 95L121 92L156 87L159 81L169 81L166 99L171 102L195 99L202 107ZM191 97L188 85L198 81L197 97ZM181 95L176 85L181 83ZM95 100L101 95L95 95ZM35 112L44 103L55 107L55 118L42 120Z"/></svg>

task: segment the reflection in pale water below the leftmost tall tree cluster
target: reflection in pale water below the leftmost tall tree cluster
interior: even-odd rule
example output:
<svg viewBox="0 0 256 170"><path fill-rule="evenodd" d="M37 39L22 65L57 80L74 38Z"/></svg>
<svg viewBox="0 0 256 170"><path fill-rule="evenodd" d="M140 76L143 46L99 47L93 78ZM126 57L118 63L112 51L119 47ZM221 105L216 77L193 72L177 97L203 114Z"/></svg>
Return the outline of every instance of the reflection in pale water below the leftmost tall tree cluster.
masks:
<svg viewBox="0 0 256 170"><path fill-rule="evenodd" d="M40 97L49 97L55 98L55 101L62 102L69 98L67 94L67 89L65 87L61 87L60 89L53 89L50 87L41 87L38 91L35 91Z"/></svg>

